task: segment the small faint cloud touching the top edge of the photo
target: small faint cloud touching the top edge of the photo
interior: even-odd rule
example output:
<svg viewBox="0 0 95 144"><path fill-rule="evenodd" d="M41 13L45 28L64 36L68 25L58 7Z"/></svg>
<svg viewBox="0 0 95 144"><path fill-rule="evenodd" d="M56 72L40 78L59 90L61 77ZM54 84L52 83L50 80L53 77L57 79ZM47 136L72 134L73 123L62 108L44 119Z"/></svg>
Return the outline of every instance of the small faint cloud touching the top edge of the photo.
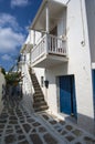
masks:
<svg viewBox="0 0 95 144"><path fill-rule="evenodd" d="M25 7L29 4L29 0L11 0L11 7Z"/></svg>

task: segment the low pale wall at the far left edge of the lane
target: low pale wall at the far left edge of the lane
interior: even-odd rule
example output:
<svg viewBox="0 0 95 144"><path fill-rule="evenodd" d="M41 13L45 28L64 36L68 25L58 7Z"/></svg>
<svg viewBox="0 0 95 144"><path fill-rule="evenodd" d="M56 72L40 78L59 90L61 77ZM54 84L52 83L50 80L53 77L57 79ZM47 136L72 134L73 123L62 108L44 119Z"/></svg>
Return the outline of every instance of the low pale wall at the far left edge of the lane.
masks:
<svg viewBox="0 0 95 144"><path fill-rule="evenodd" d="M4 75L0 72L0 113L3 109L3 102L2 102L2 84L6 85Z"/></svg>

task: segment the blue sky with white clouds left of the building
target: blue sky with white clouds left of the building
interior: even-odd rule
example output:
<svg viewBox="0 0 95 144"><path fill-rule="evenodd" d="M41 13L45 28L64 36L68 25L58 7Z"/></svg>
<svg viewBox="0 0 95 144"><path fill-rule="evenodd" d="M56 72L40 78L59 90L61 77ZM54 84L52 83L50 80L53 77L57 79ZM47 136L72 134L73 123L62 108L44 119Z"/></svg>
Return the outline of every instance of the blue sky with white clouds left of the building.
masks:
<svg viewBox="0 0 95 144"><path fill-rule="evenodd" d="M42 0L0 0L0 66L9 71Z"/></svg>

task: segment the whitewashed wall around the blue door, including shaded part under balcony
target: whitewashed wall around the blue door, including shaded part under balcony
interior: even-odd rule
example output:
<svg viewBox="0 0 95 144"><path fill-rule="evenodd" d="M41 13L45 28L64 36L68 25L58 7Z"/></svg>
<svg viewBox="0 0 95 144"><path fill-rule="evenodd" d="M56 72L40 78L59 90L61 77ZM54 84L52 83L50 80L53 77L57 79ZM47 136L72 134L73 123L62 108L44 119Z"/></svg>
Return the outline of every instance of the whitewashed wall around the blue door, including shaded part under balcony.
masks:
<svg viewBox="0 0 95 144"><path fill-rule="evenodd" d="M68 63L63 63L46 70L46 76L50 81L48 101L51 110L57 113L57 89L55 84L55 78L64 74L74 74L77 104L77 123L88 132L93 133L94 107L91 52L84 2L84 0L71 0L67 6L66 33Z"/></svg>

